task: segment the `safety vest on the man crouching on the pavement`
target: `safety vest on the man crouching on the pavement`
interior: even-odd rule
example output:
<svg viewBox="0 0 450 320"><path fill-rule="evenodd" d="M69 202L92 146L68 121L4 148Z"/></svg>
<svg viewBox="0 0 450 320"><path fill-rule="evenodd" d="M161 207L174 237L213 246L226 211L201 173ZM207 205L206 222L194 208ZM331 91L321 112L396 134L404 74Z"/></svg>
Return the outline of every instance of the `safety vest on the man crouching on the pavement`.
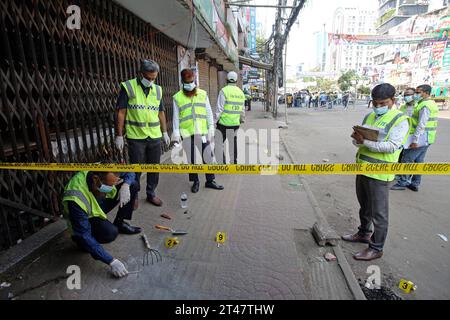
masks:
<svg viewBox="0 0 450 320"><path fill-rule="evenodd" d="M64 188L63 194L63 209L64 214L68 216L69 207L67 202L74 201L84 212L88 215L88 218L100 218L107 219L105 212L95 199L94 194L89 190L89 186L86 182L87 171L81 171L77 173ZM117 188L114 186L113 190L106 195L107 199L114 199L117 195ZM69 229L71 225L69 222Z"/></svg>

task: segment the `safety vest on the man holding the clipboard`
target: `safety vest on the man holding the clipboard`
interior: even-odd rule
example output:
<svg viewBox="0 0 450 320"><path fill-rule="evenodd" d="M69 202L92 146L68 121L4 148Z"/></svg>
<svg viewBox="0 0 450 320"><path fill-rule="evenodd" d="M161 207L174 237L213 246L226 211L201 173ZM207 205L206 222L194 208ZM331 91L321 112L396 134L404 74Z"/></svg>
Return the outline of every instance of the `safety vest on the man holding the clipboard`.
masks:
<svg viewBox="0 0 450 320"><path fill-rule="evenodd" d="M384 141L388 141L392 129L398 126L401 122L407 120L405 116L398 110L389 110L385 115L376 118L375 112L366 116L363 121L363 125L369 125L371 127L378 128L381 135L385 135ZM405 144L408 135L406 134L403 139ZM401 149L396 150L393 153L378 153L372 152L366 146L361 146L356 155L357 163L397 163L400 157ZM394 174L365 174L369 178L373 178L381 181L393 181L395 179Z"/></svg>

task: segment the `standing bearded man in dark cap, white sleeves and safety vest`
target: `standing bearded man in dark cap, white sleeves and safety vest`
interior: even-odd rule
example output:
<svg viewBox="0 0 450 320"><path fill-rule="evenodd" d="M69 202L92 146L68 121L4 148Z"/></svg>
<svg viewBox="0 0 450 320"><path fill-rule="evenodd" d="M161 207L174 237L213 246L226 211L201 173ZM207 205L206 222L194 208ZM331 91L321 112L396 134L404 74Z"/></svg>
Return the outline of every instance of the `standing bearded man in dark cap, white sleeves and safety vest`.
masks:
<svg viewBox="0 0 450 320"><path fill-rule="evenodd" d="M183 138L183 147L192 164L196 163L196 149L201 150L202 162L212 162L210 143L214 139L215 128L211 104L206 91L197 88L195 74L191 69L181 71L183 89L173 96L173 135L174 141ZM200 148L201 145L201 148ZM198 174L189 174L193 182L192 193L200 187ZM206 188L223 190L224 187L215 182L214 174L206 174Z"/></svg>

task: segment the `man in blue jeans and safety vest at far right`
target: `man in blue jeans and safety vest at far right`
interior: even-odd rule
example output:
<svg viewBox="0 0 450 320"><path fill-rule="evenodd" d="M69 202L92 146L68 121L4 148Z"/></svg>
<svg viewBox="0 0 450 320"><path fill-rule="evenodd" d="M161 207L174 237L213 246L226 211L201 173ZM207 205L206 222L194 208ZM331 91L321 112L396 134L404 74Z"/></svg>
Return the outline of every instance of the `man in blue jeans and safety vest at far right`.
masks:
<svg viewBox="0 0 450 320"><path fill-rule="evenodd" d="M430 99L431 86L422 85L415 89L415 107L411 114L410 144L406 145L402 163L423 163L428 148L436 141L439 107ZM421 175L402 175L392 190L406 190L418 192Z"/></svg>

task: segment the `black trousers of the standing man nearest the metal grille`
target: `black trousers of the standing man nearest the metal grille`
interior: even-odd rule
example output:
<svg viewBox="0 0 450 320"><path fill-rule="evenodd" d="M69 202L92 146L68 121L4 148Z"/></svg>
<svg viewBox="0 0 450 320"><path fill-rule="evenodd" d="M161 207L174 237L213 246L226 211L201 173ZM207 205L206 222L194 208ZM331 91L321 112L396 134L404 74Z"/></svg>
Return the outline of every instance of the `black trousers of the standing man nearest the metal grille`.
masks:
<svg viewBox="0 0 450 320"><path fill-rule="evenodd" d="M161 139L147 138L145 140L128 139L128 155L131 164L160 164L161 162ZM136 173L138 191L140 191L141 174ZM159 183L159 173L147 173L147 198L156 196L156 188Z"/></svg>

